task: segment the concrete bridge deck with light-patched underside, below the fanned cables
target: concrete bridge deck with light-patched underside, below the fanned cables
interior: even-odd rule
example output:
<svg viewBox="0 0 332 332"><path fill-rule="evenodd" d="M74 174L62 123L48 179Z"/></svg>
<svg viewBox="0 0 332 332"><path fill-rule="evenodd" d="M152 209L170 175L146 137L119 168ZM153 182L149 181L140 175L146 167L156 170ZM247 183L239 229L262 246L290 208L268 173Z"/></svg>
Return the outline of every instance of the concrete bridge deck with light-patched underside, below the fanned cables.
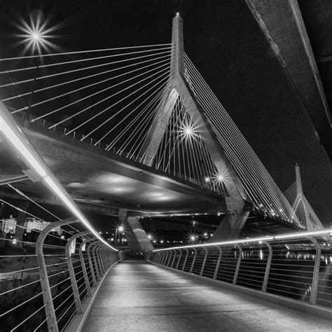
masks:
<svg viewBox="0 0 332 332"><path fill-rule="evenodd" d="M85 211L117 215L118 209L127 209L142 216L226 213L225 196L199 184L45 130L36 123L23 127L23 131L60 184ZM15 160L4 142L1 155L1 181L23 175L22 163ZM39 202L61 204L38 182L20 181L16 186L22 190L28 186Z"/></svg>

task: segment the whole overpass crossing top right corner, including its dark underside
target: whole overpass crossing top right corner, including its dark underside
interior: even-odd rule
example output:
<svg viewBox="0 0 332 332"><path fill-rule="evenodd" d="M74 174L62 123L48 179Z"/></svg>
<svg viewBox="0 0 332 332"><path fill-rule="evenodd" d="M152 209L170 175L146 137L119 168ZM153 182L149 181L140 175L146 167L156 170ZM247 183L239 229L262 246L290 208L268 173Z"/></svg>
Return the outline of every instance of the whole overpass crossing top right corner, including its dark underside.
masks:
<svg viewBox="0 0 332 332"><path fill-rule="evenodd" d="M247 0L332 160L331 4Z"/></svg>

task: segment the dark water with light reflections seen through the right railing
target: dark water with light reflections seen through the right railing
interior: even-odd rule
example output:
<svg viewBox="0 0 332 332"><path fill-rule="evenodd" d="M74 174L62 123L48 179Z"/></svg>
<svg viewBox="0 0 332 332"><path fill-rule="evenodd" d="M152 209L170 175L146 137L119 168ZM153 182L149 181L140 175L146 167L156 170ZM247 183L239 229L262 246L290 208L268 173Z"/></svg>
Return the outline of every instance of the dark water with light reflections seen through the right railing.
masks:
<svg viewBox="0 0 332 332"><path fill-rule="evenodd" d="M321 245L319 257L319 275L317 304L332 307L332 250ZM265 247L242 249L242 269L247 268L246 275L255 274L256 270L268 261L269 251ZM234 257L238 251L234 252ZM268 277L268 292L310 302L312 299L312 278L317 253L314 246L287 248L272 247L272 264ZM266 265L263 265L264 268ZM241 268L240 268L241 271ZM246 276L244 275L244 276ZM244 277L243 285L246 286ZM259 280L256 281L259 284Z"/></svg>

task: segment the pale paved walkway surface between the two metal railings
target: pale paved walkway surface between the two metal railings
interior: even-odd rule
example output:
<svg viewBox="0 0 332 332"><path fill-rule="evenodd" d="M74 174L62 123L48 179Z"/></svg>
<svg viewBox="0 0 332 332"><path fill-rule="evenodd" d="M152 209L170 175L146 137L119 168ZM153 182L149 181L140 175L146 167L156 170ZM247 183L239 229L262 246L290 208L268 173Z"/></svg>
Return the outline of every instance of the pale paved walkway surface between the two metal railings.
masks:
<svg viewBox="0 0 332 332"><path fill-rule="evenodd" d="M331 331L331 321L143 260L106 276L84 331Z"/></svg>

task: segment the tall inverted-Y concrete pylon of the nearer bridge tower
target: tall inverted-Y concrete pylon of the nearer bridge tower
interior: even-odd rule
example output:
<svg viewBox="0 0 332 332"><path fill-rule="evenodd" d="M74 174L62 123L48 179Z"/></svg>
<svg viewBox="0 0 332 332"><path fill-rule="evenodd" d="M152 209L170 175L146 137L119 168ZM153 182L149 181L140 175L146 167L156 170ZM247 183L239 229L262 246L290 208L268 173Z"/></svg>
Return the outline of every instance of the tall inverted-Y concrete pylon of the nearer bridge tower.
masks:
<svg viewBox="0 0 332 332"><path fill-rule="evenodd" d="M214 240L235 239L240 235L240 231L249 215L249 211L245 207L247 194L214 130L212 130L205 112L186 81L184 73L183 21L179 14L173 19L172 44L174 45L172 53L172 63L174 64L170 71L168 88L165 90L164 98L156 109L150 132L148 132L144 148L141 150L144 153L141 160L145 165L151 166L153 164L153 159L165 134L167 123L174 112L174 104L178 98L181 102L185 102L191 120L196 127L200 128L200 137L204 141L214 165L216 165L216 170L226 179L226 206L228 213L221 221L219 228L217 228Z"/></svg>

